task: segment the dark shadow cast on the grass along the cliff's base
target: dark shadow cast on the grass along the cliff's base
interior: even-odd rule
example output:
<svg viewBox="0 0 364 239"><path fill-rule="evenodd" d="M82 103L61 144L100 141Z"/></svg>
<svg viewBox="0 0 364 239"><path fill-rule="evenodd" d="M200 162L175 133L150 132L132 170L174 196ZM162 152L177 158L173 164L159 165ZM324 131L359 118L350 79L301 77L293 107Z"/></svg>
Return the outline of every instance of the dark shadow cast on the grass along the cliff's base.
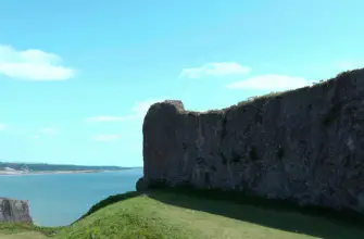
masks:
<svg viewBox="0 0 364 239"><path fill-rule="evenodd" d="M283 200L191 188L148 189L163 203L202 211L280 230L326 239L364 238L363 216L352 211L298 206Z"/></svg>

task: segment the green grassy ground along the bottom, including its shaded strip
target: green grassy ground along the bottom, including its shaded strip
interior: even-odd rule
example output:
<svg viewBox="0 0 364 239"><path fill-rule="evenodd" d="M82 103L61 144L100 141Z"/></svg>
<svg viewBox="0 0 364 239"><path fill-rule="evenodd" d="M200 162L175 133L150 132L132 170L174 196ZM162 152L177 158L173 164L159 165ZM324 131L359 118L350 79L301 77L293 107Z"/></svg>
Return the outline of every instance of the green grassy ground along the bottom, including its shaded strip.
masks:
<svg viewBox="0 0 364 239"><path fill-rule="evenodd" d="M0 224L0 238L364 238L363 227L277 209L153 189L110 197L63 228Z"/></svg>

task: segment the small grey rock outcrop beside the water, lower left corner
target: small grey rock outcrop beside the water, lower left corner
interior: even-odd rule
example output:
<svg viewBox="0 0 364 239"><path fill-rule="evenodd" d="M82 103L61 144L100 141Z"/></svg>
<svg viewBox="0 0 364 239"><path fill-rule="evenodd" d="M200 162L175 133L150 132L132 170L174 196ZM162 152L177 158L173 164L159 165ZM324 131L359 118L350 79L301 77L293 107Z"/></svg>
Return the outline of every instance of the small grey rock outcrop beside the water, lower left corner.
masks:
<svg viewBox="0 0 364 239"><path fill-rule="evenodd" d="M0 198L0 223L33 223L27 201Z"/></svg>

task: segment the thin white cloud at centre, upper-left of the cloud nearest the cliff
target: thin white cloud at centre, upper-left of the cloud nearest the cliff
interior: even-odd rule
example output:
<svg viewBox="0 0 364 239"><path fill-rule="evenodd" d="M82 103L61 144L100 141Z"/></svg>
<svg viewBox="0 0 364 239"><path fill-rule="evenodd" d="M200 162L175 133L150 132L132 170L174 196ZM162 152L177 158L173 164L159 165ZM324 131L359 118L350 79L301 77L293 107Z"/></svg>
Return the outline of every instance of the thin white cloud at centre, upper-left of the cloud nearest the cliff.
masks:
<svg viewBox="0 0 364 239"><path fill-rule="evenodd" d="M236 62L208 63L200 67L184 68L179 78L201 78L203 76L243 75L251 71L250 67Z"/></svg>

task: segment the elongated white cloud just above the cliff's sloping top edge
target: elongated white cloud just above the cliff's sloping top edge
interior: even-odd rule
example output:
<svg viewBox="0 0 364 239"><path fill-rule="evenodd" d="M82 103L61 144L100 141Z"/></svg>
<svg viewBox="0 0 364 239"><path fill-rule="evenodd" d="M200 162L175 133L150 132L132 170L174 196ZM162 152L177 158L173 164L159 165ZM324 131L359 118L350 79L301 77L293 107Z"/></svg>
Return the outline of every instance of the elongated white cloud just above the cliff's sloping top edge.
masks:
<svg viewBox="0 0 364 239"><path fill-rule="evenodd" d="M302 77L287 75L261 75L239 80L226 86L228 89L288 90L309 86L310 81Z"/></svg>

